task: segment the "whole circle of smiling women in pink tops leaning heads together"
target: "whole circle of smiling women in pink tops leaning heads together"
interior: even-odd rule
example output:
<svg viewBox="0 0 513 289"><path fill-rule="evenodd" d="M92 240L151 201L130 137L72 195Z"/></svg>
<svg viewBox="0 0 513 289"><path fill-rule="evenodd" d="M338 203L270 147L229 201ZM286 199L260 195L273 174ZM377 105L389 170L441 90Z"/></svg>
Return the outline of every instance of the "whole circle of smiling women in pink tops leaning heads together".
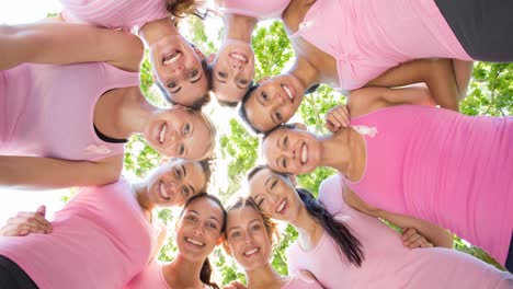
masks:
<svg viewBox="0 0 513 289"><path fill-rule="evenodd" d="M218 0L225 36L210 57L175 25L197 1L61 3L0 26L0 186L81 188L52 222L44 207L8 221L1 288L218 288L217 245L248 288L513 288L509 271L451 250L455 232L513 268L513 119L457 112L472 60L513 61L506 1ZM296 60L253 82L251 35L267 19ZM145 47L171 108L139 89ZM286 124L319 83L349 93L329 136ZM209 91L263 134L266 164L226 209L206 193ZM119 176L134 134L171 159L130 184ZM316 198L295 175L318 166L339 175ZM156 207L182 207L170 263L157 262ZM270 263L275 220L298 233L289 276Z"/></svg>

